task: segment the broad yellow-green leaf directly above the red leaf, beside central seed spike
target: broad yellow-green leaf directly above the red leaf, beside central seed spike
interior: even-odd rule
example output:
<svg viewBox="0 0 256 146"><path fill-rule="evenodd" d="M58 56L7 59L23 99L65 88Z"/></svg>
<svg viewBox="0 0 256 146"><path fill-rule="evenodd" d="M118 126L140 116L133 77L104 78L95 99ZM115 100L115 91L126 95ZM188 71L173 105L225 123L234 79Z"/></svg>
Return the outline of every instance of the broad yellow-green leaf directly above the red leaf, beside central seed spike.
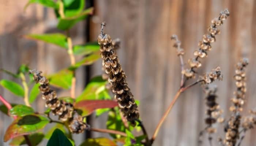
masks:
<svg viewBox="0 0 256 146"><path fill-rule="evenodd" d="M105 85L108 82L101 76L92 78L84 91L76 98L76 102L81 100L111 99Z"/></svg>

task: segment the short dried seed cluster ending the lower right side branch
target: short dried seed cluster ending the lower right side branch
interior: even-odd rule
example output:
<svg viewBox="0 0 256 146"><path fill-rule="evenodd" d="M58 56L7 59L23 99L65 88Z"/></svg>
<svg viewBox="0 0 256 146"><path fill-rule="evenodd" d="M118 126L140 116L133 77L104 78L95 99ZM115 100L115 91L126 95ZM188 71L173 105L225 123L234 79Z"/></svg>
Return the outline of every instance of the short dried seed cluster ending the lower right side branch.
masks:
<svg viewBox="0 0 256 146"><path fill-rule="evenodd" d="M212 69L210 73L206 73L203 76L200 76L200 80L203 80L202 84L210 84L217 79L222 80L222 78L223 75L219 66L215 69Z"/></svg>

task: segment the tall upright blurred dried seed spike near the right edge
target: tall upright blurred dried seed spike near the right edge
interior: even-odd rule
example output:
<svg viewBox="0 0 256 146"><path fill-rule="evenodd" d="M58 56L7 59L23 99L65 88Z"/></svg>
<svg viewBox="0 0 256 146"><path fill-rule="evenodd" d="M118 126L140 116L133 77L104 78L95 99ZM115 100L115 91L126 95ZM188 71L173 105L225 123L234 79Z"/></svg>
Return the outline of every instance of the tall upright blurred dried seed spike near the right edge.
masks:
<svg viewBox="0 0 256 146"><path fill-rule="evenodd" d="M236 80L237 90L234 92L234 97L231 99L233 105L229 108L231 112L233 112L227 126L225 127L226 137L224 139L224 143L227 146L236 145L237 139L240 137L239 127L241 124L241 114L240 112L243 110L242 105L244 105L245 100L245 92L246 92L246 74L245 67L248 65L248 59L241 59L240 62L236 65L236 74L234 79ZM245 118L245 121L250 121ZM246 127L246 122L242 124L242 126Z"/></svg>

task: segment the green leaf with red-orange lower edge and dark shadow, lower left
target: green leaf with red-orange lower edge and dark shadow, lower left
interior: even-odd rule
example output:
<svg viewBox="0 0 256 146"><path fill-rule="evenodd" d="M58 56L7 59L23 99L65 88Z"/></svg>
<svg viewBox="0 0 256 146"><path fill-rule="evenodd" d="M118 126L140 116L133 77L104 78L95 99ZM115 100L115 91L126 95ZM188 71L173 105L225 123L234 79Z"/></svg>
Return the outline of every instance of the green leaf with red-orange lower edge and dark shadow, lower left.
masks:
<svg viewBox="0 0 256 146"><path fill-rule="evenodd" d="M9 141L12 138L29 135L41 130L49 123L49 120L41 115L26 115L18 117L7 128L4 135L4 142Z"/></svg>

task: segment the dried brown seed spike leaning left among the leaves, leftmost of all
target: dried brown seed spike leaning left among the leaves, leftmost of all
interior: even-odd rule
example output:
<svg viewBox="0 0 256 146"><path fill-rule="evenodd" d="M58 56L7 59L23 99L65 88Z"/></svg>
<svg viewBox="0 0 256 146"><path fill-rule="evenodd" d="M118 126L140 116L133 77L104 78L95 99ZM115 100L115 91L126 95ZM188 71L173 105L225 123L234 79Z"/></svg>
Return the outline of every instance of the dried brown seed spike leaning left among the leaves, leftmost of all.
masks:
<svg viewBox="0 0 256 146"><path fill-rule="evenodd" d="M30 70L30 73L33 73L34 81L40 84L41 97L46 100L45 106L50 108L53 115L58 115L59 119L63 122L67 121L72 133L83 132L86 129L86 124L83 123L82 116L74 111L73 105L71 103L64 103L64 101L57 98L56 92L49 87L49 80L41 76L41 71ZM75 113L74 116L73 113Z"/></svg>

